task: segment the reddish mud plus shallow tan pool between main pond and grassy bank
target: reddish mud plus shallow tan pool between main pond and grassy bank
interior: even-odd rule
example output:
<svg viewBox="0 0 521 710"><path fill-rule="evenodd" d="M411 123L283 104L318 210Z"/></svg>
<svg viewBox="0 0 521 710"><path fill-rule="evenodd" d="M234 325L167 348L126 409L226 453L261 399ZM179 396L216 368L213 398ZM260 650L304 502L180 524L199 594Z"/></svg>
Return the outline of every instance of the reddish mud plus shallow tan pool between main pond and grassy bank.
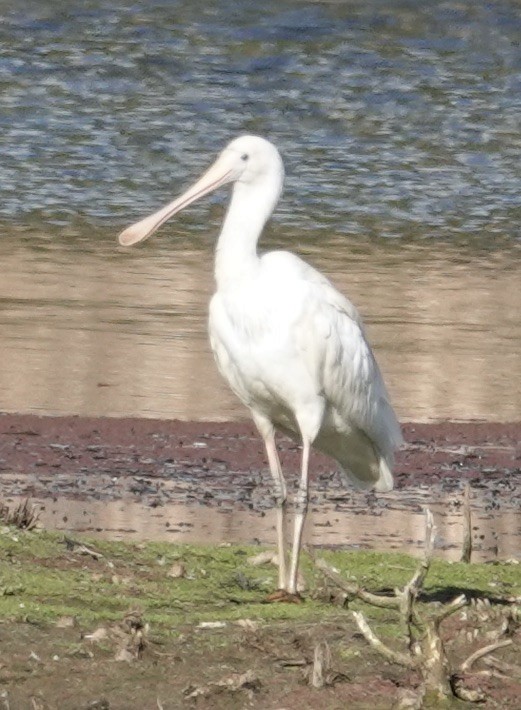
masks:
<svg viewBox="0 0 521 710"><path fill-rule="evenodd" d="M314 454L308 542L375 549L421 546L422 509L439 547L457 555L469 482L481 559L521 550L521 423L406 424L396 490L345 489ZM280 437L290 490L299 447ZM272 542L271 480L249 423L0 416L0 483L30 496L49 527L134 539Z"/></svg>

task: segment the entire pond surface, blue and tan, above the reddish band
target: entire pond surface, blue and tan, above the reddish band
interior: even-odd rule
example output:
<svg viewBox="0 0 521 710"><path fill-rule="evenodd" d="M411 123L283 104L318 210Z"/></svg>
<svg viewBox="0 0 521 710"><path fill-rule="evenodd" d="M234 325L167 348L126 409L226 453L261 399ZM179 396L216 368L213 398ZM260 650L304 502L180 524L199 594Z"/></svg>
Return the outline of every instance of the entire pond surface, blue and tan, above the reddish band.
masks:
<svg viewBox="0 0 521 710"><path fill-rule="evenodd" d="M116 236L234 136L266 248L357 304L402 418L521 418L517 2L0 1L0 410L244 415L206 340L226 202Z"/></svg>

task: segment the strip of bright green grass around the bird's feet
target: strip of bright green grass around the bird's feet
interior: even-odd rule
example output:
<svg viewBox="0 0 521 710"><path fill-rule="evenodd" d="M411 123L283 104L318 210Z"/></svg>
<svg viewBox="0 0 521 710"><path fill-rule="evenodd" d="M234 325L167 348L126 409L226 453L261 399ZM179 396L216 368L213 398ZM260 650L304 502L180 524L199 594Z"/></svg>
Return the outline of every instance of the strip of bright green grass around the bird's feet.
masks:
<svg viewBox="0 0 521 710"><path fill-rule="evenodd" d="M83 539L102 557L67 549L63 535L0 531L0 620L53 623L73 616L80 624L121 619L131 608L142 610L156 630L177 633L201 621L318 621L344 613L313 598L321 575L303 557L308 582L306 602L264 604L276 587L272 565L248 563L258 547L193 546L168 543L123 543ZM407 555L375 552L324 552L323 556L350 581L371 591L403 586L417 561ZM182 562L185 577L168 571ZM425 587L427 600L470 596L521 595L521 568L516 565L451 564L435 560ZM385 610L372 610L378 620ZM392 629L389 628L391 633Z"/></svg>

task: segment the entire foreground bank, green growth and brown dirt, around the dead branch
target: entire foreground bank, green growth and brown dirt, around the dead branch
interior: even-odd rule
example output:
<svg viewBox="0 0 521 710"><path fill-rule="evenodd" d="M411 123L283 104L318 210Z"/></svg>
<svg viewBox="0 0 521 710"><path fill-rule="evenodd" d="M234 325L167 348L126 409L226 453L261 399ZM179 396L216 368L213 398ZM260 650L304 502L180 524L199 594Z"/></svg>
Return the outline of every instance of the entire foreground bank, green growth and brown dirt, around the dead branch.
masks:
<svg viewBox="0 0 521 710"><path fill-rule="evenodd" d="M305 601L267 604L276 568L269 561L254 564L260 552L259 547L71 540L3 528L0 708L376 710L393 707L417 686L414 672L368 646L351 614L362 610L384 642L403 650L393 610L344 604L308 555ZM324 551L320 556L373 592L403 586L417 565L399 554ZM461 593L488 598L491 606L465 609L444 622L454 662L504 624L503 611L512 608L507 601L521 596L520 566L434 560L422 613ZM472 678L488 695L484 707L520 707L516 624L508 633L513 644L494 657L511 665L492 675L484 663L473 669L488 670ZM310 684L317 646L331 657L325 685L318 689Z"/></svg>

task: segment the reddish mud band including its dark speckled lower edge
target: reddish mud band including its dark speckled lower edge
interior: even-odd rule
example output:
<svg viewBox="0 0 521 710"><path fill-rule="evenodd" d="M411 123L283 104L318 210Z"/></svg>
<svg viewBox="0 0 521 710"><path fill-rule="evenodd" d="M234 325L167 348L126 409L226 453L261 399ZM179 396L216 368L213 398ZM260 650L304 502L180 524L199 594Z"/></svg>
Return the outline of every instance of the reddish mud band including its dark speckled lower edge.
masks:
<svg viewBox="0 0 521 710"><path fill-rule="evenodd" d="M335 462L313 454L312 507L324 514L380 515L382 509L394 509L411 515L426 504L446 509L450 503L458 512L469 482L473 509L482 520L498 521L499 508L510 520L516 518L521 423L405 424L403 429L406 444L395 466L399 495L378 497L346 488L335 476ZM300 447L285 437L278 443L291 493L299 478ZM71 499L85 509L91 502L124 499L145 514L169 504L193 510L203 505L216 512L273 507L264 447L249 423L0 415L0 484L7 503L14 496L49 498L62 509ZM505 535L500 522L496 527ZM492 537L483 549L494 549L495 531L486 534ZM508 536L505 549L512 555L516 543L511 538L520 537L521 544L521 525L512 528L510 522Z"/></svg>

